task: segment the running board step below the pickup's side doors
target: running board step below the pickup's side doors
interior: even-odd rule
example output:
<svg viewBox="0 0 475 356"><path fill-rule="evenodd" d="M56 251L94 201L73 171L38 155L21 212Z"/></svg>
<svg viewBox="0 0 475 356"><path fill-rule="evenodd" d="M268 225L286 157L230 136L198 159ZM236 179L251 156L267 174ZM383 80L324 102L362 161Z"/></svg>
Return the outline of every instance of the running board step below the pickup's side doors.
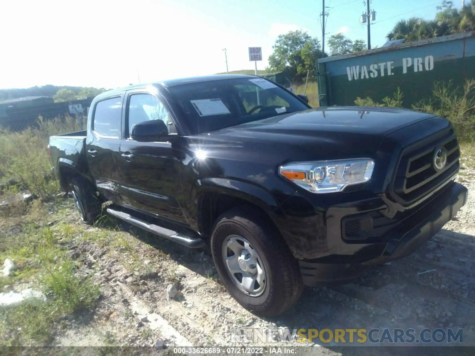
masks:
<svg viewBox="0 0 475 356"><path fill-rule="evenodd" d="M147 230L151 232L152 234L165 237L171 241L177 242L187 247L198 248L198 247L203 247L206 244L205 241L202 239L180 235L176 231L169 230L158 225L149 224L143 220L137 219L136 217L133 217L132 215L124 213L122 211L114 210L111 208L107 208L106 211L110 215L115 216L119 219L122 219L132 225L138 226L144 230Z"/></svg>

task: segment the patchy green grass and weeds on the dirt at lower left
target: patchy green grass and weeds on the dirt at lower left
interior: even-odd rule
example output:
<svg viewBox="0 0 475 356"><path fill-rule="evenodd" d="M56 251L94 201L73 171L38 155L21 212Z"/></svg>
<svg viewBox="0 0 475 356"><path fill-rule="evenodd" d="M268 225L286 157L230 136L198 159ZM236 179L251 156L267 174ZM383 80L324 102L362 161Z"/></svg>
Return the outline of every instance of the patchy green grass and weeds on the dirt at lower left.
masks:
<svg viewBox="0 0 475 356"><path fill-rule="evenodd" d="M80 229L47 226L49 219L61 216L49 213L38 200L0 219L0 234L6 237L0 240L0 261L10 258L16 265L13 276L0 279L0 287L28 283L46 296L0 309L0 346L48 344L66 315L91 310L100 295L99 287L61 248Z"/></svg>

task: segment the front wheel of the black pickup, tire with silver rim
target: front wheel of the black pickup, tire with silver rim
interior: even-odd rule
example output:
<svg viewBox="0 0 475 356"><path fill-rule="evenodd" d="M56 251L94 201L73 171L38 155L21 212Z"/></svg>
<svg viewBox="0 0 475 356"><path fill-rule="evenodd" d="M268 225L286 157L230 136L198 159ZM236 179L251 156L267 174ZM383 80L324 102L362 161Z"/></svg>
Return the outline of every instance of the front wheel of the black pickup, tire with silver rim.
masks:
<svg viewBox="0 0 475 356"><path fill-rule="evenodd" d="M254 266L254 271L257 270L256 275L258 276L258 266L261 266L261 270L263 266L265 275L265 278L260 278L263 281L263 286L254 282L249 290L243 290L243 284L249 286L249 283L243 283L245 274L241 273L241 282L239 282L239 273L230 272L227 265L230 265L231 262L225 262L225 259L236 258L234 250L231 251L228 246L238 249L239 247L236 247L235 243L242 244L243 240L247 240L251 247L246 251L255 250L257 253L252 253L252 251L249 253L252 254L251 258L257 256L254 260L257 261L257 264L253 263L249 267L245 267L246 271L252 271ZM226 249L223 248L223 245L227 246ZM246 246L245 242L243 246ZM258 316L273 317L283 313L295 304L304 290L297 260L275 226L260 217L259 212L252 208L235 208L218 217L211 235L211 251L219 277L229 294L245 309ZM241 259L237 263L239 267L242 266L242 259L249 255L246 254L246 251L244 253L241 251L238 254L237 259ZM232 266L236 265L232 264ZM246 274L246 276L250 275ZM246 278L249 280L249 277ZM259 280L259 277L256 278ZM261 288L262 290L260 290Z"/></svg>

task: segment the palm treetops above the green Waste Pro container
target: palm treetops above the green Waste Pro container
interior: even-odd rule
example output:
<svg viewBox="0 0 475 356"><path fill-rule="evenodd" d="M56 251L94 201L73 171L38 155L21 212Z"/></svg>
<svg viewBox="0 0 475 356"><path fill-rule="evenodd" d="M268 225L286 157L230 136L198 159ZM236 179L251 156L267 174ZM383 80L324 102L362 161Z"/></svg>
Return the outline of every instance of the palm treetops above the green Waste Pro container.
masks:
<svg viewBox="0 0 475 356"><path fill-rule="evenodd" d="M437 6L436 18L424 20L412 17L400 20L388 33L388 40L406 39L407 42L418 41L439 36L452 35L475 30L475 3L466 1L465 6L457 9L453 1L442 1Z"/></svg>

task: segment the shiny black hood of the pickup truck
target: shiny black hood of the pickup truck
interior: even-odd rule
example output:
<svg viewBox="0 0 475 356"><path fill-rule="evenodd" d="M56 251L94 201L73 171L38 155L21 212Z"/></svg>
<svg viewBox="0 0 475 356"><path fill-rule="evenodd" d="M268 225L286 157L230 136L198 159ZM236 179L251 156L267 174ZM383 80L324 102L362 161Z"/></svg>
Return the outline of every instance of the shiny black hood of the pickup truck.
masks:
<svg viewBox="0 0 475 356"><path fill-rule="evenodd" d="M241 161L372 158L384 137L433 116L395 108L310 109L209 132L195 144L210 157Z"/></svg>

